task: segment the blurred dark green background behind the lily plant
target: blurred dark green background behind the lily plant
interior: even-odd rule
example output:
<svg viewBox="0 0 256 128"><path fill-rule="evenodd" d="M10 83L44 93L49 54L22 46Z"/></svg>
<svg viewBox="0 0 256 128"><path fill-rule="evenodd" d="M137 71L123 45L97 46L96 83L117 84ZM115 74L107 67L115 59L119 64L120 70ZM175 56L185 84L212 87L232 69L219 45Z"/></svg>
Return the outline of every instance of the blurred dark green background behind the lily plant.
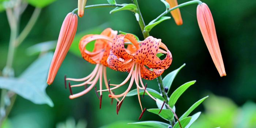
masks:
<svg viewBox="0 0 256 128"><path fill-rule="evenodd" d="M130 0L116 1L117 3L131 3ZM165 11L165 6L160 0L138 1L146 24ZM178 3L187 1L178 0ZM212 12L227 76L220 77L212 62L197 24L196 4L180 9L183 25L177 26L174 20L170 19L157 25L150 32L153 37L162 39L162 42L166 44L173 56L173 62L165 70L163 76L186 63L186 66L176 76L170 92L173 92L185 82L197 81L176 103L176 114L181 116L197 100L212 93L227 97L227 100L232 103L229 104L229 102L221 101L221 99L217 100L218 98L215 98L214 95L210 95L204 105L200 105L192 112L192 114L198 111L204 113L203 116L199 117L200 120L195 123L195 128L219 126L223 128L256 128L255 124L247 125L247 127L242 124L234 125L244 118L255 118L255 116L243 117L238 114L240 116L237 116L237 118L229 118L232 114L224 113L230 109L237 113L242 113L243 110L248 109L251 111L247 113L256 113L256 106L253 103L256 102L256 1L202 1L208 5ZM87 0L86 5L100 3L107 3L107 1ZM40 42L57 40L63 19L68 12L76 7L76 0L57 0L42 9L34 28L16 51L13 64L15 76L19 76L38 57L38 55L29 56L26 54L27 48ZM79 33L99 34L103 29L111 27L113 30L133 33L138 35L141 40L143 39L138 22L132 12L119 11L110 15L109 11L111 9L112 7L85 10L84 16L78 18L77 35ZM33 10L34 7L31 5L25 10L21 17L20 30L25 27ZM168 14L167 16L171 15ZM0 30L0 70L2 70L6 64L10 39L10 27L5 11L0 13ZM72 45L73 49L76 47L78 49L78 46ZM95 67L95 65L78 56L77 52L70 51L67 54L53 84L46 89L54 107L35 105L18 96L6 121L10 125L9 127L53 128L56 127L57 123L64 122L69 117L74 118L76 122L86 120L87 128L98 128L116 121L121 121L120 124L138 121L141 110L137 96L126 97L118 115L116 115L115 103L110 105L108 93L103 93L101 110L94 90L76 99L68 98L69 90L64 88L64 75L67 74L67 77L71 78L82 78L89 75ZM117 72L109 68L107 73L108 79L111 79L112 83L120 83L128 75L127 72ZM158 90L157 80L145 80L144 82L150 83L148 87ZM73 93L78 93L82 89L73 89ZM118 94L125 89L126 87L122 87L115 92ZM226 107L224 107L225 104ZM155 101L147 96L142 99L142 105L147 109L157 108ZM211 105L216 106L216 110L213 110L214 108L211 108ZM224 108L224 110L217 117L223 116L226 118L211 119L211 117L216 116L214 112L219 112L218 106L223 106L220 108ZM225 115L222 115L223 113ZM161 117L145 112L141 121L147 120L163 121ZM206 122L206 120L209 123L203 125L202 122ZM109 128L115 127L117 126L109 126Z"/></svg>

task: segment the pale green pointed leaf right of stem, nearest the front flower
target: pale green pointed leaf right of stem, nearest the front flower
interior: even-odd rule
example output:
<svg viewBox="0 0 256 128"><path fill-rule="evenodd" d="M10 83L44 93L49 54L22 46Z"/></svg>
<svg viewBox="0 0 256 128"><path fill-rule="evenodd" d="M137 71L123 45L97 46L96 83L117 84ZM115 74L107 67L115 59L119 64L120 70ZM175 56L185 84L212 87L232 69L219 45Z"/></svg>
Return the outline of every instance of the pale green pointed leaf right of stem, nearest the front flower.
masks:
<svg viewBox="0 0 256 128"><path fill-rule="evenodd" d="M171 88L171 86L172 86L172 83L173 83L173 80L174 80L175 76L178 74L178 72L180 71L180 69L183 68L185 65L186 65L186 64L181 65L180 68L178 68L178 69L176 69L176 70L170 72L169 74L167 74L167 75L165 76L165 78L163 78L163 86L164 86L164 87L168 87L167 93L169 92L169 90L170 90L170 88Z"/></svg>

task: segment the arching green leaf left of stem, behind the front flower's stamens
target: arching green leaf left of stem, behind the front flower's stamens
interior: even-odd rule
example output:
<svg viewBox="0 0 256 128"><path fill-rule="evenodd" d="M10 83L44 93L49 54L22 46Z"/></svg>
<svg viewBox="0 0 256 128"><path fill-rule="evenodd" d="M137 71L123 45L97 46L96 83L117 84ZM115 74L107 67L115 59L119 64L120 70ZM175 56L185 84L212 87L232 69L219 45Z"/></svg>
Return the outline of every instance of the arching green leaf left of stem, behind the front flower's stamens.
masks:
<svg viewBox="0 0 256 128"><path fill-rule="evenodd" d="M148 93L151 94L153 97L158 98L158 99L161 99L161 100L164 100L163 97L161 96L161 94L158 93L156 90L147 88L147 91L148 91ZM140 92L140 93L139 93L140 95L143 95L144 89L140 89L139 92ZM137 94L138 94L138 93L137 93L137 89L134 89L134 90L132 90L132 91L129 91L129 93L127 93L126 96L127 96L127 97L131 97L131 96L137 95ZM148 95L148 94L145 92L145 95Z"/></svg>

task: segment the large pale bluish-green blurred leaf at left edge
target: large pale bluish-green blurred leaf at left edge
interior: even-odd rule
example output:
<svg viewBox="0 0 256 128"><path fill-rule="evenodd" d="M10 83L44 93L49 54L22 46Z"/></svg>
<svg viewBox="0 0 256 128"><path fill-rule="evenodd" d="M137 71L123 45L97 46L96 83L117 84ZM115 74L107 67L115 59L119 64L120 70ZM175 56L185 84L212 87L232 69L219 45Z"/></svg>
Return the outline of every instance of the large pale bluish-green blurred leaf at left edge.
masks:
<svg viewBox="0 0 256 128"><path fill-rule="evenodd" d="M0 88L14 91L25 99L36 104L48 104L53 107L52 100L46 94L46 78L53 53L45 54L35 60L19 78L0 77Z"/></svg>

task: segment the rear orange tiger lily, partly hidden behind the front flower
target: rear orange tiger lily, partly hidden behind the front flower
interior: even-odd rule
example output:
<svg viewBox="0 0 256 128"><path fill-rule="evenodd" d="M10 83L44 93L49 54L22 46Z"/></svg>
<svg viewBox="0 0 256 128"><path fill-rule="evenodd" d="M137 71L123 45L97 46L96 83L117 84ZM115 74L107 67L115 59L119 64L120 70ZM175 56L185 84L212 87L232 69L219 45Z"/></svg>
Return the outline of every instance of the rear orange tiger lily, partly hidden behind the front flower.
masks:
<svg viewBox="0 0 256 128"><path fill-rule="evenodd" d="M99 79L100 97L98 97L98 98L100 99L100 105L101 105L102 77L104 78L106 88L108 89L108 81L107 81L107 77L106 77L106 67L108 67L107 59L109 56L110 48L112 46L112 40L116 35L117 35L117 31L114 31L114 30L108 28L108 29L105 29L104 31L102 31L102 33L100 35L88 34L80 39L79 49L82 54L82 57L84 58L84 60L88 61L89 63L96 64L96 66L95 66L93 72L91 72L90 75L88 75L84 78L81 78L81 79L65 78L65 84L66 84L66 80L84 81L83 83L75 84L75 85L70 85L70 82L69 82L70 91L71 91L72 87L86 86L85 87L86 89L80 93L73 95L72 91L71 91L71 95L69 96L70 99L74 99L76 97L80 97L80 96L86 94L88 91L93 89L93 87L95 86L95 84L98 82L98 79ZM94 44L94 49L93 49L93 52L90 52L86 49L86 45L89 42L94 41L94 40L96 40L95 44ZM87 88L87 84L91 84L91 85ZM113 94L112 91L110 93Z"/></svg>

